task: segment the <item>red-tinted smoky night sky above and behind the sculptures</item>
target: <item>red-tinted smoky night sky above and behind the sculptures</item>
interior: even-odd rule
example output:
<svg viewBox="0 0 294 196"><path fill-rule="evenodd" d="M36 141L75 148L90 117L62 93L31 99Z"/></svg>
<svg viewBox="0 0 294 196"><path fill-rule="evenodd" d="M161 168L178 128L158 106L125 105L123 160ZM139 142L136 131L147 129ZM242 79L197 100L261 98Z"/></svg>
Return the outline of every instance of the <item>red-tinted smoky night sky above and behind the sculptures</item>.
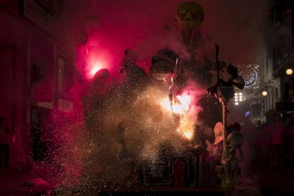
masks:
<svg viewBox="0 0 294 196"><path fill-rule="evenodd" d="M143 61L163 47L163 26L175 28L175 11L184 2L179 0L116 0L116 1L68 1L67 26L80 42L80 27L89 15L97 16L99 28L94 39L99 47L113 54L118 63L125 48L136 48ZM213 58L214 43L221 48L220 59L235 64L255 63L256 32L266 5L254 0L198 0L205 10L202 35L206 53ZM143 65L144 67L144 65Z"/></svg>

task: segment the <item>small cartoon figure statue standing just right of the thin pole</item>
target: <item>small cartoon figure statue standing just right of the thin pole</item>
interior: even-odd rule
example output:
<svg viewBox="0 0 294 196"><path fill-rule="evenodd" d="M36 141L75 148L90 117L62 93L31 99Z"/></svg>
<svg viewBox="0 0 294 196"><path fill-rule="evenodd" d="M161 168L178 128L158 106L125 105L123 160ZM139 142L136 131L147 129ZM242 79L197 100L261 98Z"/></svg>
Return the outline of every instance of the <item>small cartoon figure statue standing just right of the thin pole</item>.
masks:
<svg viewBox="0 0 294 196"><path fill-rule="evenodd" d="M229 129L231 131L227 136L229 156L227 156L227 160L222 159L222 163L224 165L224 172L227 175L227 184L234 185L237 184L237 178L239 176L239 162L244 161L243 151L241 149L243 136L240 133L241 126L239 123L235 122ZM240 158L236 157L237 151L239 151Z"/></svg>

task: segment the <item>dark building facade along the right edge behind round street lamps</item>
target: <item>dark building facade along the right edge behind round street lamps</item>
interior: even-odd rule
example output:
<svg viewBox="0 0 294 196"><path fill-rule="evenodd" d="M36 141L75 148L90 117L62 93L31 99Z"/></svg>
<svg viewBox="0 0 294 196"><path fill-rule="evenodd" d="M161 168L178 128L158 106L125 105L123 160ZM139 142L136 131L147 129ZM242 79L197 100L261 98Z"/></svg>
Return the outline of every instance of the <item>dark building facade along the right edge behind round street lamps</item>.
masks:
<svg viewBox="0 0 294 196"><path fill-rule="evenodd" d="M264 13L263 38L261 39L259 56L263 64L261 91L267 92L262 97L263 119L273 114L287 114L294 109L294 80L286 75L287 69L294 68L293 51L293 1L267 1Z"/></svg>

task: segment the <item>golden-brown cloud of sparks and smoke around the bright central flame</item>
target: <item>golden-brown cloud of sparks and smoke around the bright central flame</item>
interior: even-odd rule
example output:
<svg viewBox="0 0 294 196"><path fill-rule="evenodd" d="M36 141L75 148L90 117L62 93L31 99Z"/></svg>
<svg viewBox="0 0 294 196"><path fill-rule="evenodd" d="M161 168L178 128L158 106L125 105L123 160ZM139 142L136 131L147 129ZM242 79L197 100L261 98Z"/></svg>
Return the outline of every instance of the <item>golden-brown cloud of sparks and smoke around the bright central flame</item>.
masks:
<svg viewBox="0 0 294 196"><path fill-rule="evenodd" d="M180 122L171 109L162 104L163 100L168 100L168 87L150 85L128 107L121 103L123 97L118 96L119 87L115 89L102 107L92 110L90 127L85 126L82 116L65 124L61 135L66 139L59 148L59 156L63 158L58 160L66 168L62 175L66 184L63 185L122 183L130 175L131 165L121 160L123 146L119 141L119 126L125 128L126 156L138 165L144 160L154 163L163 143L168 143L170 153L181 155L192 141L197 113L201 109L197 102L203 92L192 82L188 84L176 95L178 104L184 108L183 112L175 114L179 115Z"/></svg>

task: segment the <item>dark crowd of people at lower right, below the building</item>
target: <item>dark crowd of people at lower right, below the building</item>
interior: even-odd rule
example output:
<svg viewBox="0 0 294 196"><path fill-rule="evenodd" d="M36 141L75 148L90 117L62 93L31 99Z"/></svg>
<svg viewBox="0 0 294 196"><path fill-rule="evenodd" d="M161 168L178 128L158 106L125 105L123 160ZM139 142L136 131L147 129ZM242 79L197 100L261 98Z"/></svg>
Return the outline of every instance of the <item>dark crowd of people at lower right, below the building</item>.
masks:
<svg viewBox="0 0 294 196"><path fill-rule="evenodd" d="M280 114L268 123L256 124L254 142L255 165L292 167L294 165L294 117L282 119Z"/></svg>

